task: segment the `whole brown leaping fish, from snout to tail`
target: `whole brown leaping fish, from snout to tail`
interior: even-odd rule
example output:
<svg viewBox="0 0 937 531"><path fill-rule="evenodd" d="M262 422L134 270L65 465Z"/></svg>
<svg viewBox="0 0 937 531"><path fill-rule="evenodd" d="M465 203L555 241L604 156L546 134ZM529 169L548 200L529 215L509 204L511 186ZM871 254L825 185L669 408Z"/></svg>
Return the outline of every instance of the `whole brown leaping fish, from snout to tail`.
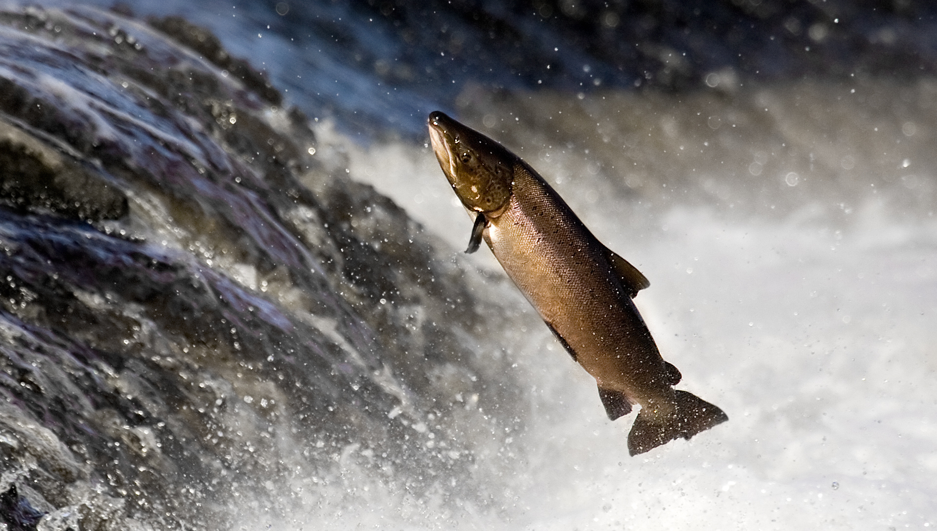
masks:
<svg viewBox="0 0 937 531"><path fill-rule="evenodd" d="M589 375L612 420L641 411L632 455L690 438L728 417L686 391L632 298L647 278L605 247L517 155L441 112L429 116L439 166L475 215L468 252L487 243L514 284Z"/></svg>

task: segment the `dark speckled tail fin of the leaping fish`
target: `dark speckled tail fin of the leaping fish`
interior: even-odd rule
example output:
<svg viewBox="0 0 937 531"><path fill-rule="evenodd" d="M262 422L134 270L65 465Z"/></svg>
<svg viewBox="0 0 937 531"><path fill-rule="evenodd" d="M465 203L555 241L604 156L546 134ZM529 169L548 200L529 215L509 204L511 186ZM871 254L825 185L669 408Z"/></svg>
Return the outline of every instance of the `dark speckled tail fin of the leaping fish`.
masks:
<svg viewBox="0 0 937 531"><path fill-rule="evenodd" d="M677 412L662 419L662 423L651 422L642 417L640 411L632 431L628 434L628 451L632 455L657 448L677 437L689 439L693 435L729 420L719 407L687 391L677 391Z"/></svg>

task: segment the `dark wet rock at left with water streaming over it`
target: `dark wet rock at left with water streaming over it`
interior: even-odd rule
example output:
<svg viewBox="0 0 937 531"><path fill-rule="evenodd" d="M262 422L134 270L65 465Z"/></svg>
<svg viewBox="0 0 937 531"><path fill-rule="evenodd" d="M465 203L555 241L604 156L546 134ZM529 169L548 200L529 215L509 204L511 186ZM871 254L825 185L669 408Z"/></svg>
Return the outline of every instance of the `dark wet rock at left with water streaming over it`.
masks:
<svg viewBox="0 0 937 531"><path fill-rule="evenodd" d="M495 492L523 406L451 251L201 28L0 22L0 472L82 529L225 528L349 463Z"/></svg>

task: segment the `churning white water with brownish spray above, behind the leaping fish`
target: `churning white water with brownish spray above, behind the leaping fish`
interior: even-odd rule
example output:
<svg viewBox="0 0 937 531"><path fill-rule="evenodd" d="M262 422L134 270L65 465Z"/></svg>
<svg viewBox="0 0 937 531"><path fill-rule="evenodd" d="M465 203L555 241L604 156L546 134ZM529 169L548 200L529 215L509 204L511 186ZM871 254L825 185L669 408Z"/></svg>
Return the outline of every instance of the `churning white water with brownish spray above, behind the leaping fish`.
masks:
<svg viewBox="0 0 937 531"><path fill-rule="evenodd" d="M683 373L678 388L721 406L729 422L629 457L633 415L607 420L594 381L525 309L518 328L531 330L504 347L528 376L528 429L498 440L512 466L479 472L504 485L490 507L409 498L350 466L292 522L251 524L937 525L932 88L856 86L864 98L842 97L856 87L809 84L604 102L469 95L461 118L525 156L646 273L651 287L635 302ZM549 120L565 122L550 130ZM328 125L318 134L322 150L346 153L353 178L453 253L468 243L470 219L425 146L357 146ZM490 252L474 259L496 272L492 289L504 289Z"/></svg>

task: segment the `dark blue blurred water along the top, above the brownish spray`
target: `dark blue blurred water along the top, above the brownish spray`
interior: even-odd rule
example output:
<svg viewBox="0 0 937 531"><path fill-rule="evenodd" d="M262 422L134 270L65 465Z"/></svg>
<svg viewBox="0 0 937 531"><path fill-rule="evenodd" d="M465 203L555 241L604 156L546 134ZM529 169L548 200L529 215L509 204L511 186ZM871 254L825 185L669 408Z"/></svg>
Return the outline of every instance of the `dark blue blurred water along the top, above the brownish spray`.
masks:
<svg viewBox="0 0 937 531"><path fill-rule="evenodd" d="M95 2L110 7L112 2ZM424 137L467 85L572 93L937 74L937 7L881 0L123 3L183 14L356 133ZM721 80L721 81L720 81Z"/></svg>

